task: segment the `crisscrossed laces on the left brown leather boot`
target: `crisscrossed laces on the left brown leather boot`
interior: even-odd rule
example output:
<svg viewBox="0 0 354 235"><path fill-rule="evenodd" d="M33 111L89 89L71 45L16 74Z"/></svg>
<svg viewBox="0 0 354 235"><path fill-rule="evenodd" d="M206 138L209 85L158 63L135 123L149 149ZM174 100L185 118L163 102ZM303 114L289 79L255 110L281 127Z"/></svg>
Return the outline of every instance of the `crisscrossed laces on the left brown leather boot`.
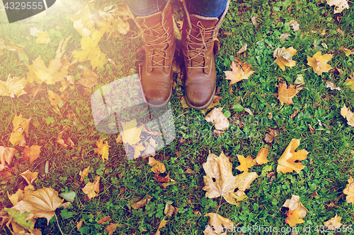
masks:
<svg viewBox="0 0 354 235"><path fill-rule="evenodd" d="M169 26L167 26L167 30L164 30L164 24L155 25L154 27L145 26L145 29L142 31L142 40L144 43L152 50L152 55L147 58L152 58L152 65L148 65L149 68L169 68L170 66L164 66L164 60L170 59L169 56L166 57L166 52L169 47L169 43L172 42L171 35L169 35ZM159 35L159 31L164 30L162 35ZM154 36L154 33L157 34ZM145 36L145 37L144 37ZM149 40L147 40L149 38ZM165 39L163 42L159 42L159 40ZM156 56L161 56L161 60L154 61Z"/></svg>

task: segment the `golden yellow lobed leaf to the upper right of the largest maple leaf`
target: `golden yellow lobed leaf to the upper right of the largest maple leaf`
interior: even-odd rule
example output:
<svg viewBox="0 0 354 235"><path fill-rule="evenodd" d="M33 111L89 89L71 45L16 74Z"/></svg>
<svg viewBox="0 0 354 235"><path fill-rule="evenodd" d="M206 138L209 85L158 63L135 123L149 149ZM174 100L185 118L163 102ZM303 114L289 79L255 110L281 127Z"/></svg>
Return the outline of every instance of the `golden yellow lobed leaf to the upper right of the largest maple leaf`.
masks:
<svg viewBox="0 0 354 235"><path fill-rule="evenodd" d="M282 173L288 173L292 171L296 171L299 173L302 169L304 169L304 166L302 165L301 162L296 162L296 161L302 161L307 158L307 152L306 150L299 150L295 152L297 147L300 145L300 140L297 139L292 139L290 144L287 145L287 148L285 151L282 153L280 158L278 159L278 167L277 167L277 172L282 172Z"/></svg>

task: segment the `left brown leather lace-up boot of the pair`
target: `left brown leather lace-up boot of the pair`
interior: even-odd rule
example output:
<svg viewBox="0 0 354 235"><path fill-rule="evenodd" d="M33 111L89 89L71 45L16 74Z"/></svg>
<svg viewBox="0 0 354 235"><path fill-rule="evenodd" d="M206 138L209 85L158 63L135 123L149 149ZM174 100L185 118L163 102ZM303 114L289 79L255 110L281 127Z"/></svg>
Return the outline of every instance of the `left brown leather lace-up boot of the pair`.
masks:
<svg viewBox="0 0 354 235"><path fill-rule="evenodd" d="M144 41L145 58L140 80L150 107L164 107L172 95L172 61L176 49L171 5L150 16L135 18Z"/></svg>

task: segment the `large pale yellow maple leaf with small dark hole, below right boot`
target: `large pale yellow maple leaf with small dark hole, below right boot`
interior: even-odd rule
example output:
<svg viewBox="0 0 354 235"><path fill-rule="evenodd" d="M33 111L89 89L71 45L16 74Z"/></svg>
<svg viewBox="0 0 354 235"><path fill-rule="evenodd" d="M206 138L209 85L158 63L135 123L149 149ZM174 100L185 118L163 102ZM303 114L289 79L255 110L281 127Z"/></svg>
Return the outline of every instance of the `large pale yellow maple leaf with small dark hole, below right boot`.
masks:
<svg viewBox="0 0 354 235"><path fill-rule="evenodd" d="M246 191L252 181L257 178L256 172L242 173L237 176L232 175L232 163L222 152L219 157L215 154L207 156L207 162L202 164L207 174L204 176L205 186L202 188L207 191L205 197L218 198L222 196L228 203L237 205L236 202L247 198ZM234 192L235 188L238 191Z"/></svg>

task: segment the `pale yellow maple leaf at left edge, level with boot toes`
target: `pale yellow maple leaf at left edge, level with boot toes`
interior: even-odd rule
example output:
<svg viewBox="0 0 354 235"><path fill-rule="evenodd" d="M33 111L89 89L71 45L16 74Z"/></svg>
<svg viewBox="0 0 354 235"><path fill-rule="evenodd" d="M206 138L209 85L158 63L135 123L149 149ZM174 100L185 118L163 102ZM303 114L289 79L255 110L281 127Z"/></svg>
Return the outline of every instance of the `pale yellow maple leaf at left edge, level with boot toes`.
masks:
<svg viewBox="0 0 354 235"><path fill-rule="evenodd" d="M11 78L11 74L9 74L5 82L0 80L0 96L9 96L14 98L16 95L19 97L20 95L26 93L23 90L26 84L27 80L25 80L25 78L18 78L16 76Z"/></svg>

